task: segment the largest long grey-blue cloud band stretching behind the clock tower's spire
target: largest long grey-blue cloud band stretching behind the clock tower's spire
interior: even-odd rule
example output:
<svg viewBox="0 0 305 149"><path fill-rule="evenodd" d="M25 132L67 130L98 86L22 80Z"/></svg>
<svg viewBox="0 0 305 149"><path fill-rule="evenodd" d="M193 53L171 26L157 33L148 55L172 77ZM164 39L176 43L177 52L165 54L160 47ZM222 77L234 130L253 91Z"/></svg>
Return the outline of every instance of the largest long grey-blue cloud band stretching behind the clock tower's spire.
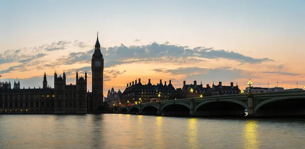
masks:
<svg viewBox="0 0 305 149"><path fill-rule="evenodd" d="M158 63L196 63L206 59L229 59L241 63L262 63L273 61L269 58L253 58L233 51L214 50L213 48L169 45L152 43L143 46L120 46L103 48L105 67L135 62L158 62ZM58 58L58 64L90 63L94 50L85 52L72 52L68 56Z"/></svg>

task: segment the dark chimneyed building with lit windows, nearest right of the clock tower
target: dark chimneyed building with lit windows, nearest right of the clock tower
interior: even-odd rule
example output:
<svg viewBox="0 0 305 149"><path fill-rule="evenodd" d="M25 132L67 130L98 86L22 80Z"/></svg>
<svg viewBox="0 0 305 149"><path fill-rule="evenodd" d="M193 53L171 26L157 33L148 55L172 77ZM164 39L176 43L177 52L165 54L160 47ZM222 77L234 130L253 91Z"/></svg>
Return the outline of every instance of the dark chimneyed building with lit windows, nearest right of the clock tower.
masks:
<svg viewBox="0 0 305 149"><path fill-rule="evenodd" d="M169 80L168 85L166 85L166 81L163 85L161 79L160 83L152 85L150 79L148 79L148 84L142 85L141 79L139 79L139 83L135 80L127 84L126 89L122 93L121 104L127 105L168 100L169 96L173 93L176 93L176 90L171 84L171 80Z"/></svg>

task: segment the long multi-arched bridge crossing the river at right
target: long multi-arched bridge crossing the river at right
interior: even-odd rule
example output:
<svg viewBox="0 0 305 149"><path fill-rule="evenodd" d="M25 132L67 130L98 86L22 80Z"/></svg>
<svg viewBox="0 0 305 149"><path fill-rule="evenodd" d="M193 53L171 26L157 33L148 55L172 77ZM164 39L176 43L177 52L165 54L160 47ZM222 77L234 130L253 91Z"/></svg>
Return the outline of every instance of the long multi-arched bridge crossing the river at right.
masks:
<svg viewBox="0 0 305 149"><path fill-rule="evenodd" d="M305 90L165 100L118 107L118 113L164 116L305 115Z"/></svg>

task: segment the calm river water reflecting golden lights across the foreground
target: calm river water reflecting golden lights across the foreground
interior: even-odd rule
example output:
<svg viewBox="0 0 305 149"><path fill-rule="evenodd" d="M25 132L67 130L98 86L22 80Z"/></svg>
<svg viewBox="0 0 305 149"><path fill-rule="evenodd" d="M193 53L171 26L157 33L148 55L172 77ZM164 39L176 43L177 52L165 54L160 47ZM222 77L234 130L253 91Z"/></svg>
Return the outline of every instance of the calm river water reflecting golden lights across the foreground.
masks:
<svg viewBox="0 0 305 149"><path fill-rule="evenodd" d="M0 148L303 148L305 119L0 115Z"/></svg>

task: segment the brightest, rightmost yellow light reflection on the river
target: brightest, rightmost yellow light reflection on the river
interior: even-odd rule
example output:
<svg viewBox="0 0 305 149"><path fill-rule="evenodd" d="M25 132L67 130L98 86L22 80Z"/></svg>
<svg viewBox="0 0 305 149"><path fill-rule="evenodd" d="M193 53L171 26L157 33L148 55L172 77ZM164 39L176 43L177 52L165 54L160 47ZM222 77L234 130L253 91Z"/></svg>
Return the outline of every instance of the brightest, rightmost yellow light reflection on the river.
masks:
<svg viewBox="0 0 305 149"><path fill-rule="evenodd" d="M257 122L255 120L250 120L245 124L243 140L245 148L258 148L259 142L257 141Z"/></svg>

